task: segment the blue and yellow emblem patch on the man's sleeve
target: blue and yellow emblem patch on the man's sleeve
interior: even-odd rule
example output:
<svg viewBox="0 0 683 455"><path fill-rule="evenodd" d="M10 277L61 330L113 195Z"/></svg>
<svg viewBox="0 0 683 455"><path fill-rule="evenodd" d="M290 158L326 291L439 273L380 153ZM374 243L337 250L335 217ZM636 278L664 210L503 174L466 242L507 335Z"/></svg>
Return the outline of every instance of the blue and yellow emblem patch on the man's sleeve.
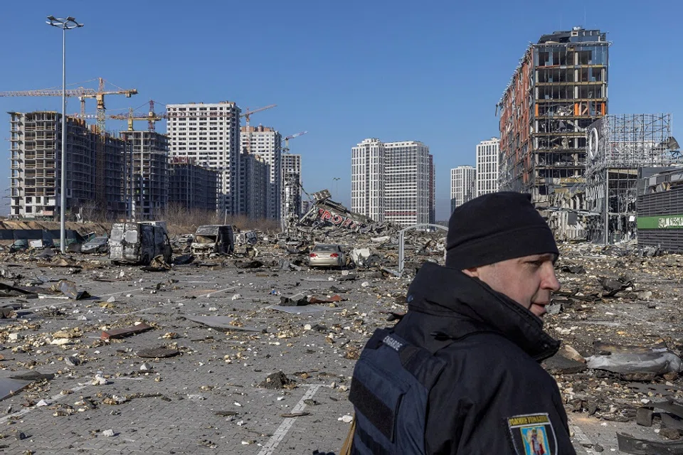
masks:
<svg viewBox="0 0 683 455"><path fill-rule="evenodd" d="M557 455L555 429L548 414L507 417L512 445L517 455Z"/></svg>

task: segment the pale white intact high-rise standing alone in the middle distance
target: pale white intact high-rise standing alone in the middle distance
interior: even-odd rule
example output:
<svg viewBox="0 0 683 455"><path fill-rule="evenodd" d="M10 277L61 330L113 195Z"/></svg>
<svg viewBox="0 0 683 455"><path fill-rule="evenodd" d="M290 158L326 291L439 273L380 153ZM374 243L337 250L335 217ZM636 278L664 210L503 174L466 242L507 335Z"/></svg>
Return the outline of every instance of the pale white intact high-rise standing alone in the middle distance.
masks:
<svg viewBox="0 0 683 455"><path fill-rule="evenodd" d="M429 223L433 180L429 147L421 142L365 139L351 149L351 211L375 221Z"/></svg>

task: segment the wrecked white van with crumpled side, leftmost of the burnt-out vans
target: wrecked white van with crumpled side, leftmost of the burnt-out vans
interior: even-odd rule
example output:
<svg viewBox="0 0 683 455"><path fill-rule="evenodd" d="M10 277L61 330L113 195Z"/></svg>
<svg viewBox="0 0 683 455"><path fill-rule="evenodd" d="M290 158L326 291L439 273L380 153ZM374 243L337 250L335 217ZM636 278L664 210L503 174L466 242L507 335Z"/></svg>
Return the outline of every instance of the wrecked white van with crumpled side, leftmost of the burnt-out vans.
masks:
<svg viewBox="0 0 683 455"><path fill-rule="evenodd" d="M149 265L154 257L162 255L171 262L171 242L163 223L114 223L109 241L112 262Z"/></svg>

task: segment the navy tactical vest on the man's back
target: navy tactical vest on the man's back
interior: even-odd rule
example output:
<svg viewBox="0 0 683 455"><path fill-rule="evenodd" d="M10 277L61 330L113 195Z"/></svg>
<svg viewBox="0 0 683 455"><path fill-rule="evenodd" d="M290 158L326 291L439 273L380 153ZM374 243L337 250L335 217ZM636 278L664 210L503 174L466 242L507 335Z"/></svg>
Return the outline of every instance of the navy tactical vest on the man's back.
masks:
<svg viewBox="0 0 683 455"><path fill-rule="evenodd" d="M356 411L351 454L425 454L429 392L444 366L425 348L377 329L351 382L349 400Z"/></svg>

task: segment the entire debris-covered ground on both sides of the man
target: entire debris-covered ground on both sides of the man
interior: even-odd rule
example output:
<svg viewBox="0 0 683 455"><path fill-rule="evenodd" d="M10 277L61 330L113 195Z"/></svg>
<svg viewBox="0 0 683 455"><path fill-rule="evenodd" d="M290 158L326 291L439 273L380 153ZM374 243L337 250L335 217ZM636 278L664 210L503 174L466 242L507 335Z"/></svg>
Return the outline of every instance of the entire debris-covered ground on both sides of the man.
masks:
<svg viewBox="0 0 683 455"><path fill-rule="evenodd" d="M443 261L444 232L408 232L398 278L395 227L309 221L288 235L243 233L229 256L192 256L179 236L174 264L0 253L0 448L338 451L355 360L406 311L419 264ZM343 245L346 267L309 269L314 242ZM561 252L563 288L545 321L563 349L545 365L577 450L678 453L683 257L635 245Z"/></svg>

